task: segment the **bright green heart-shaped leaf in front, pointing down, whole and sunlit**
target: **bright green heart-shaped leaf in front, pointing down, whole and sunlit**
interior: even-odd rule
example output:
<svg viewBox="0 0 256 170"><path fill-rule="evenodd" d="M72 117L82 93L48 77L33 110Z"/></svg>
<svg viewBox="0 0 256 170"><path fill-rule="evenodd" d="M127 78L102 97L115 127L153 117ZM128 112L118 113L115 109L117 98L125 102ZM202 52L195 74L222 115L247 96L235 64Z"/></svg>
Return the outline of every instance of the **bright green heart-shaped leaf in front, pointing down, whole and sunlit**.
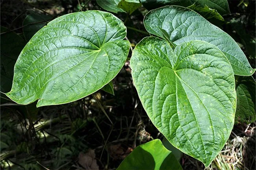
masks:
<svg viewBox="0 0 256 170"><path fill-rule="evenodd" d="M208 42L176 46L147 37L130 60L139 98L168 141L205 166L221 151L234 125L235 79L225 55Z"/></svg>

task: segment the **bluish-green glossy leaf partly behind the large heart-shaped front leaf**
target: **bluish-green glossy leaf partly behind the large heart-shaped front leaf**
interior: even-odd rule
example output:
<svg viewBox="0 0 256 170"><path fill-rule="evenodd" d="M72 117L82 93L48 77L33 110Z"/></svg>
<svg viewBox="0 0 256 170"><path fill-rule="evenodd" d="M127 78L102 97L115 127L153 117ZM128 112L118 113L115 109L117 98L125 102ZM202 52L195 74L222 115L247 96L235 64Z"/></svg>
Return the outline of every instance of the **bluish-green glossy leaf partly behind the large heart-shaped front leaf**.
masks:
<svg viewBox="0 0 256 170"><path fill-rule="evenodd" d="M252 69L245 54L236 42L224 31L212 25L194 11L179 7L166 6L150 11L144 19L149 33L167 38L174 44L190 40L203 40L217 46L228 58L236 75L252 75Z"/></svg>

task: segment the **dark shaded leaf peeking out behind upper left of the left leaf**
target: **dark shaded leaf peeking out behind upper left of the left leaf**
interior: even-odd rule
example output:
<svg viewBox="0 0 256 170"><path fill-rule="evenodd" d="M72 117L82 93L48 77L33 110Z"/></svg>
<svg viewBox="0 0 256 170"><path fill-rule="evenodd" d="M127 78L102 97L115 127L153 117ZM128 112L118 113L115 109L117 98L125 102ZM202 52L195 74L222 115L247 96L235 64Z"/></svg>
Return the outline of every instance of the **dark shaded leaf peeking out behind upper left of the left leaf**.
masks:
<svg viewBox="0 0 256 170"><path fill-rule="evenodd" d="M23 33L26 40L29 41L33 37L33 35L35 35L35 33L39 31L39 29L41 29L43 26L46 26L47 22L49 22L50 20L52 20L52 16L38 14L35 12L26 16L26 18L23 21L23 26L24 26ZM40 22L40 23L37 23L37 22ZM36 24L33 24L33 23L36 23Z"/></svg>

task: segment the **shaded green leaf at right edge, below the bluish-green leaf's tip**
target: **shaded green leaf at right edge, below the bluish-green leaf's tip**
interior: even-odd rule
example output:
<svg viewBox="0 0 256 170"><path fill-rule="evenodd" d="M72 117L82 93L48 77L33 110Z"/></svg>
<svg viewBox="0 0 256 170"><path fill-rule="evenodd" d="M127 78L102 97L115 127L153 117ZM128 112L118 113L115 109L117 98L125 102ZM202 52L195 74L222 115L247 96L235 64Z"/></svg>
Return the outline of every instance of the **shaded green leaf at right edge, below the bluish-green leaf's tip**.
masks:
<svg viewBox="0 0 256 170"><path fill-rule="evenodd" d="M255 80L252 76L241 77L236 79L236 123L251 123L256 120L255 115Z"/></svg>

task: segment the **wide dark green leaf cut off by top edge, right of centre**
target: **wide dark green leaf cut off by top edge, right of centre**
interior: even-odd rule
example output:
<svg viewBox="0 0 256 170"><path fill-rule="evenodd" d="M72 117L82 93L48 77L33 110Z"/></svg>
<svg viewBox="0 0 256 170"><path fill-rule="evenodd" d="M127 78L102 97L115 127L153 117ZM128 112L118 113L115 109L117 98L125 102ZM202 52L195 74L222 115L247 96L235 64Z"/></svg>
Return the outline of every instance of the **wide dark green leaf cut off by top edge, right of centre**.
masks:
<svg viewBox="0 0 256 170"><path fill-rule="evenodd" d="M188 7L196 4L204 7L208 6L211 9L215 9L221 15L230 14L227 0L141 0L141 3L147 9L156 9L166 5L180 5Z"/></svg>

